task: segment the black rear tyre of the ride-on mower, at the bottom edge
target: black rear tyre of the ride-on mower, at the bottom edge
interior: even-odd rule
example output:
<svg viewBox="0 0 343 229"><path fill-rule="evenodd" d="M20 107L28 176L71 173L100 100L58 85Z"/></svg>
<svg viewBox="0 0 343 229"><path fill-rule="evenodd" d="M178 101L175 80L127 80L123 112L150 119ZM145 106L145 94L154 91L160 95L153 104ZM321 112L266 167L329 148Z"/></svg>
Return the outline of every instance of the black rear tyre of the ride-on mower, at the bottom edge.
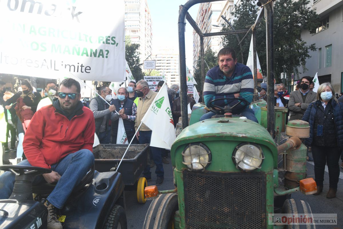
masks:
<svg viewBox="0 0 343 229"><path fill-rule="evenodd" d="M122 206L113 206L104 229L127 229L126 214Z"/></svg>

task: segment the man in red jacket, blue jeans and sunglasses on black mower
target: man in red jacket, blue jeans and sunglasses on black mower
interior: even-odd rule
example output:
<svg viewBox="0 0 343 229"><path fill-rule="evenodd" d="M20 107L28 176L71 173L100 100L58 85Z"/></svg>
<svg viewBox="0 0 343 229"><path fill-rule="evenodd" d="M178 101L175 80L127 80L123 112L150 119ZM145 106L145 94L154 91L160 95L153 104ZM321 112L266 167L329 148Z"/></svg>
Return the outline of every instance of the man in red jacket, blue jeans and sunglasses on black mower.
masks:
<svg viewBox="0 0 343 229"><path fill-rule="evenodd" d="M61 209L73 188L94 164L92 153L95 122L93 112L80 101L80 84L64 79L52 105L38 110L25 133L23 148L27 160L19 165L49 168L51 173L37 176L33 185L56 183L47 197L48 229L62 229L56 208ZM14 185L14 174L0 176L0 199L9 198Z"/></svg>

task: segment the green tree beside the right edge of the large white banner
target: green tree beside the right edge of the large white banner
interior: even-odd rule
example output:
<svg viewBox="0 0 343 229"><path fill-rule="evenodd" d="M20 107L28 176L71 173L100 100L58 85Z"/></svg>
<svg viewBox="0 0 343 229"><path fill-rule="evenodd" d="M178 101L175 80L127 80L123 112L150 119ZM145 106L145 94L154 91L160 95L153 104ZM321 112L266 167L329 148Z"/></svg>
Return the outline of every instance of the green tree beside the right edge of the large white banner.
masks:
<svg viewBox="0 0 343 229"><path fill-rule="evenodd" d="M125 36L125 58L136 81L142 80L144 76L139 59L139 46L131 42L130 36Z"/></svg>

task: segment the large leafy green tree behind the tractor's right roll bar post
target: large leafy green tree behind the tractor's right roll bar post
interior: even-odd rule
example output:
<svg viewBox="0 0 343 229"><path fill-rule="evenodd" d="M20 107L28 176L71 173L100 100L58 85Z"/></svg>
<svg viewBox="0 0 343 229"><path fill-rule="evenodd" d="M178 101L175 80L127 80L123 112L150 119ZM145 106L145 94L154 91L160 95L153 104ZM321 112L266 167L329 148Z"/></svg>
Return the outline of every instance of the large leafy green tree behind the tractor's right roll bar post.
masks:
<svg viewBox="0 0 343 229"><path fill-rule="evenodd" d="M285 66L287 76L292 73L299 75L298 68L306 68L306 59L311 56L309 51L315 51L316 44L306 44L301 38L301 31L308 30L311 34L316 32L319 25L319 16L315 10L306 7L308 0L278 0L274 3L274 77L277 82L281 82L280 74ZM246 26L255 23L258 8L252 4L251 0L242 0L236 11L232 14L236 19L233 20L235 30L245 29ZM230 30L227 26L223 31ZM245 34L238 34L240 39ZM241 61L240 49L235 35L226 35L224 38L225 46L233 47L237 53L238 62ZM248 59L251 34L243 41L244 60ZM256 50L259 55L263 74L267 74L266 49L265 49L265 20L262 19L256 30ZM246 64L246 63L243 63ZM288 78L290 81L290 78Z"/></svg>

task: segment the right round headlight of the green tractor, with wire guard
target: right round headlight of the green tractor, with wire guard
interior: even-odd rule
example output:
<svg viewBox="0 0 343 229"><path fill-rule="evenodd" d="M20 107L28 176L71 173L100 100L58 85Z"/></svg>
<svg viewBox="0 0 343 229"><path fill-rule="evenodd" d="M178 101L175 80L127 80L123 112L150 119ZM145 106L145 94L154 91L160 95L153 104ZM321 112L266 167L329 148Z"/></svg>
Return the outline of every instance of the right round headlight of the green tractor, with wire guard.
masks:
<svg viewBox="0 0 343 229"><path fill-rule="evenodd" d="M232 158L236 164L236 168L243 171L250 171L261 169L264 155L259 145L244 142L236 146Z"/></svg>

